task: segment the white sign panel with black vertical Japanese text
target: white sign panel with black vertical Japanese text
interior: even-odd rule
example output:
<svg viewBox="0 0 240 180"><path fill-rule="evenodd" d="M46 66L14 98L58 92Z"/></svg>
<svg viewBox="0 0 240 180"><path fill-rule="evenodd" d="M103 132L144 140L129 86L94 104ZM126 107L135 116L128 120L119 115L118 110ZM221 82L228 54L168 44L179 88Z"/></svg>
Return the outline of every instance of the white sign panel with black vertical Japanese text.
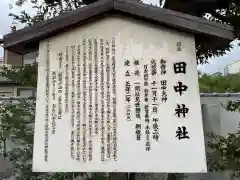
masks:
<svg viewBox="0 0 240 180"><path fill-rule="evenodd" d="M110 18L39 53L34 171L206 172L192 36Z"/></svg>

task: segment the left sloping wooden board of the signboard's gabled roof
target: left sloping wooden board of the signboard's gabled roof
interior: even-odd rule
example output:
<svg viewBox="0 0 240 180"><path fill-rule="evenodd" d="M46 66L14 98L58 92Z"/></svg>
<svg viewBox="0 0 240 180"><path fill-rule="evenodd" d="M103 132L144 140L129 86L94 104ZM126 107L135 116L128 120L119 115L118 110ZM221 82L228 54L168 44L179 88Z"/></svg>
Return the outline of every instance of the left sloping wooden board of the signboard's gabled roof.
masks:
<svg viewBox="0 0 240 180"><path fill-rule="evenodd" d="M5 35L3 37L4 48L7 49L11 46L31 42L38 43L41 39L67 31L74 26L83 25L91 19L96 20L98 19L97 16L111 9L113 9L113 2L111 0L97 1L73 12L66 13L65 15Z"/></svg>

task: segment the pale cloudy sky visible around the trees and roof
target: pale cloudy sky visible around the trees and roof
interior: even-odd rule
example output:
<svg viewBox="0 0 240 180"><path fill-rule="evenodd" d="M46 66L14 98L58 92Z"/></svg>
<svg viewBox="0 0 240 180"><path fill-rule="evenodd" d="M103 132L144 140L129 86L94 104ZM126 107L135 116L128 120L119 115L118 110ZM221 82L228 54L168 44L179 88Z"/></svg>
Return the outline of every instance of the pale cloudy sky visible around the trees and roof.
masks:
<svg viewBox="0 0 240 180"><path fill-rule="evenodd" d="M25 4L22 8L13 7L12 10L9 10L9 4L14 4L16 0L0 0L0 38L4 34L10 32L10 26L12 24L12 18L8 16L10 12L20 12L21 10L26 10L31 14L34 13L31 8L31 4ZM146 3L158 4L158 0L145 0ZM239 42L234 42L234 48L231 49L226 55L212 58L209 60L209 64L205 64L203 66L199 66L198 69L204 73L214 73L217 71L223 72L224 66L231 64L237 60L240 60L240 46L238 46ZM0 57L3 56L3 49L0 48Z"/></svg>

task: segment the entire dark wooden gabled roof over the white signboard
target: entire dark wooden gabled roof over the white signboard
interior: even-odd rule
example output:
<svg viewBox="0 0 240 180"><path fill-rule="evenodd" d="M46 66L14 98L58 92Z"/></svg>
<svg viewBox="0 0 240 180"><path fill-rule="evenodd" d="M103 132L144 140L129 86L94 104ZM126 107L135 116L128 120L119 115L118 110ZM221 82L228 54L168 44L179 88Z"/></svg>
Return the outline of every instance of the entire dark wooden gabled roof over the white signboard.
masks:
<svg viewBox="0 0 240 180"><path fill-rule="evenodd" d="M220 40L233 40L233 28L191 15L125 0L100 0L73 12L23 28L4 36L5 49L23 54L29 47L38 47L42 39L84 25L111 14L131 16L179 31Z"/></svg>

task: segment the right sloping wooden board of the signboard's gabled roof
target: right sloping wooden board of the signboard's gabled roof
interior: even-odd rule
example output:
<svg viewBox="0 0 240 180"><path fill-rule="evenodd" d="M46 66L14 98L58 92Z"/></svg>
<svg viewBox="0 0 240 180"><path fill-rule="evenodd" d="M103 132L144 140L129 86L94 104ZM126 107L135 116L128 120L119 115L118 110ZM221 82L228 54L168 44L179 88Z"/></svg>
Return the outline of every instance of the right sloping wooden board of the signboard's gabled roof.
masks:
<svg viewBox="0 0 240 180"><path fill-rule="evenodd" d="M193 34L215 36L220 39L233 39L233 28L229 25L220 24L203 18L183 14L169 9L158 8L143 3L127 1L115 1L114 8L121 12L136 15L148 21ZM146 11L147 9L147 11Z"/></svg>

